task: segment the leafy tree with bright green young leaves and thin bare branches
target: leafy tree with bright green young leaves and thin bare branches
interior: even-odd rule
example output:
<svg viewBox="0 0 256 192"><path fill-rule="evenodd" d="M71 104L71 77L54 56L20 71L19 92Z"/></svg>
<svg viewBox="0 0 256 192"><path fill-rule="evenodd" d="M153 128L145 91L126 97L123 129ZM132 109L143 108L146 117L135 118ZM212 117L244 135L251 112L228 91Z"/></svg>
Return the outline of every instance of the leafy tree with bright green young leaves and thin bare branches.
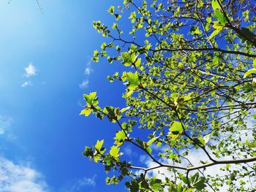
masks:
<svg viewBox="0 0 256 192"><path fill-rule="evenodd" d="M108 9L112 29L94 22L108 41L93 61L127 66L108 76L124 83L127 106L99 107L94 92L84 94L80 113L117 128L112 147L98 140L83 153L115 171L108 184L125 180L132 192L256 190L255 3L124 0ZM130 31L121 31L128 17ZM127 145L146 164L121 153Z"/></svg>

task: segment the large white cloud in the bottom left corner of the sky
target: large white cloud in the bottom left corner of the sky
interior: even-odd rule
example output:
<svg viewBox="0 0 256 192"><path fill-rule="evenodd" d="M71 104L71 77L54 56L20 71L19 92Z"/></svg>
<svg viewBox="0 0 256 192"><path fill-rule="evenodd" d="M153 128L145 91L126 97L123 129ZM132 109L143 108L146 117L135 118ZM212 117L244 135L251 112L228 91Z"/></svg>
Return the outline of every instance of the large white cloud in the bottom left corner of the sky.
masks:
<svg viewBox="0 0 256 192"><path fill-rule="evenodd" d="M0 191L47 192L48 186L42 174L29 166L14 164L0 156Z"/></svg>

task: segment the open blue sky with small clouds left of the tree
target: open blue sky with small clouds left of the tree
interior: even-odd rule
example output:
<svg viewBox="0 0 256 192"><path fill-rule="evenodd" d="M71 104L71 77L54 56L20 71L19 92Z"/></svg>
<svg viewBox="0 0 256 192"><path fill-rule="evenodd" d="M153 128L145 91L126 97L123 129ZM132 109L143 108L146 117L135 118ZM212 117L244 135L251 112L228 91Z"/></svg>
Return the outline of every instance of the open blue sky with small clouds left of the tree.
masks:
<svg viewBox="0 0 256 192"><path fill-rule="evenodd" d="M124 107L124 85L106 78L117 67L90 62L105 41L92 22L113 22L116 1L40 4L43 13L34 0L0 1L0 191L127 191L106 186L103 166L82 155L116 129L78 115L90 91Z"/></svg>

